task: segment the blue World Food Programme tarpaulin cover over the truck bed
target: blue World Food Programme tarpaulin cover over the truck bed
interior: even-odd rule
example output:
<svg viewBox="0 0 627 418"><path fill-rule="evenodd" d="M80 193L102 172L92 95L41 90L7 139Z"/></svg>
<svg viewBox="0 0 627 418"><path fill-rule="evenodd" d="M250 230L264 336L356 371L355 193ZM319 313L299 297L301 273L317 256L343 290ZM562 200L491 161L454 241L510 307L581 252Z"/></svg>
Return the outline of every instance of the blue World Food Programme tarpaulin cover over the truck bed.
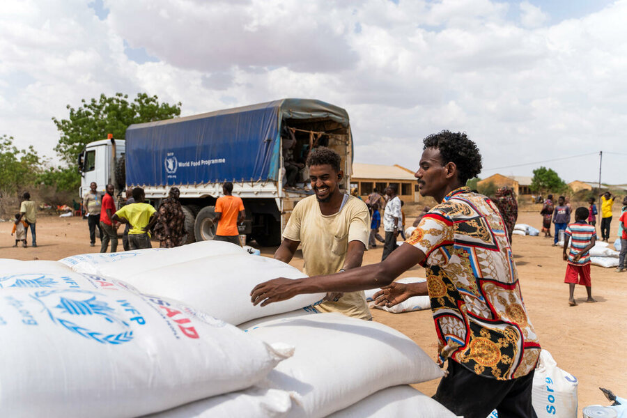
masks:
<svg viewBox="0 0 627 418"><path fill-rule="evenodd" d="M130 125L126 130L127 184L278 180L284 118L330 119L348 127L344 109L307 99Z"/></svg>

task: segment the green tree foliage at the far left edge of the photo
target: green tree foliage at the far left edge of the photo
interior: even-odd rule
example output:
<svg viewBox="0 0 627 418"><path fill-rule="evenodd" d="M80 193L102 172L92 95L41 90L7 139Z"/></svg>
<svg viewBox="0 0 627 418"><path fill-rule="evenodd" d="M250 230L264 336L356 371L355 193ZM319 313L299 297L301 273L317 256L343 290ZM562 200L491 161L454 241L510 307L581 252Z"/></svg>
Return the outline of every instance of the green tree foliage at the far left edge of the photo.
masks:
<svg viewBox="0 0 627 418"><path fill-rule="evenodd" d="M32 145L18 149L13 141L6 134L0 137L0 192L17 196L36 183L45 160Z"/></svg>

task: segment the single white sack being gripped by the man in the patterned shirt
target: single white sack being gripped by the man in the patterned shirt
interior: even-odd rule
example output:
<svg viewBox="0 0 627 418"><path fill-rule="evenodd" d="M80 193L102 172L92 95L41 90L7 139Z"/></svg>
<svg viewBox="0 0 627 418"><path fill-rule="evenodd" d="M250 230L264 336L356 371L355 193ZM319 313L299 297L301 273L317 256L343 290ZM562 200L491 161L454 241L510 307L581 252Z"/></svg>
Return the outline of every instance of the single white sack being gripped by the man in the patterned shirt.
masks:
<svg viewBox="0 0 627 418"><path fill-rule="evenodd" d="M254 306L250 302L253 288L277 277L307 276L282 261L251 256L245 251L144 270L125 277L125 281L143 293L180 300L233 325L307 307L325 297L324 293L298 295L266 307Z"/></svg>

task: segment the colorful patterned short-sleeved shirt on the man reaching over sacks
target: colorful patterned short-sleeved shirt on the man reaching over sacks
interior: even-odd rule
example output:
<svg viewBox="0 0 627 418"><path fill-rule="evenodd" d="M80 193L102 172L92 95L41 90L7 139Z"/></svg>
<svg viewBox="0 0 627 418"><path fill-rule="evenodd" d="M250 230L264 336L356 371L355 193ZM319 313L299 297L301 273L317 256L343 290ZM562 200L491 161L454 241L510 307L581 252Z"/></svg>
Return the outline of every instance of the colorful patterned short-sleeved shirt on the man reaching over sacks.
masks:
<svg viewBox="0 0 627 418"><path fill-rule="evenodd" d="M438 362L509 380L534 370L540 344L522 303L504 222L486 196L460 187L406 241L426 254Z"/></svg>

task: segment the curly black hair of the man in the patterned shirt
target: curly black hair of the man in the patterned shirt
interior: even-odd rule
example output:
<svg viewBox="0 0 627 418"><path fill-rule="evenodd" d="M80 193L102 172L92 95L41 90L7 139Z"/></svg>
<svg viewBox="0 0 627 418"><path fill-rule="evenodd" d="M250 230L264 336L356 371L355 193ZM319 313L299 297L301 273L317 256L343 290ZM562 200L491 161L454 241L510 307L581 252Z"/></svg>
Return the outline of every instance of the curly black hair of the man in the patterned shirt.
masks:
<svg viewBox="0 0 627 418"><path fill-rule="evenodd" d="M438 148L442 156L442 164L454 162L457 166L457 177L465 185L470 178L481 173L481 154L477 144L470 141L463 132L443 130L431 134L424 139L424 148Z"/></svg>

